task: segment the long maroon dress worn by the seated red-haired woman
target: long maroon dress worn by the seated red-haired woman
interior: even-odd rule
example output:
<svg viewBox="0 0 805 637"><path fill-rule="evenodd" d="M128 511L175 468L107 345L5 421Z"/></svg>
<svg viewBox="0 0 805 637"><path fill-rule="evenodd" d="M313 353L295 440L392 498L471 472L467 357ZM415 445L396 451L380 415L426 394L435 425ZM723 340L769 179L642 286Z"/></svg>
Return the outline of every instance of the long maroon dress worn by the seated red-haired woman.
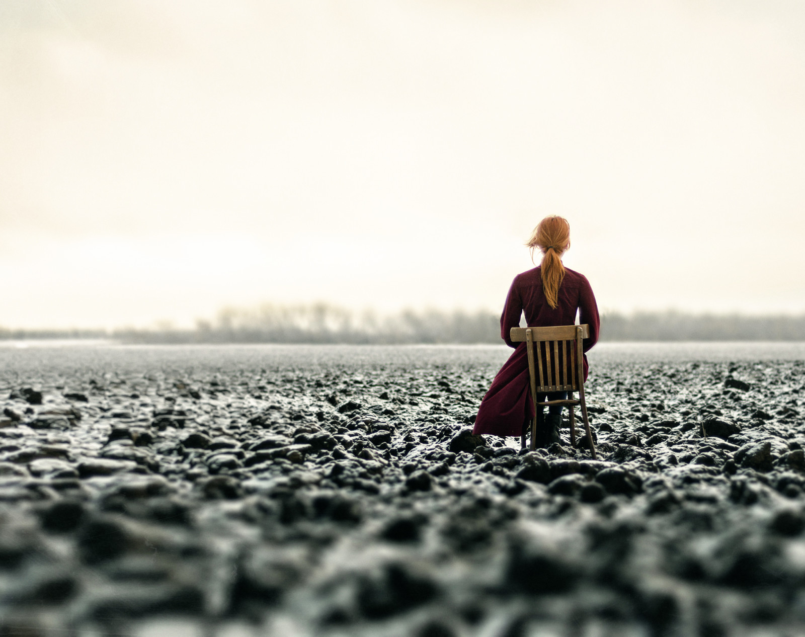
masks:
<svg viewBox="0 0 805 637"><path fill-rule="evenodd" d="M501 337L506 345L515 349L481 400L473 433L519 436L526 417L534 417L534 405L528 391L526 343L513 343L509 334L511 328L520 325L520 313L526 313L526 322L531 327L543 327L573 325L576 310L579 311L579 324L587 323L590 326L590 337L585 338L582 345L586 352L596 344L599 327L596 297L586 277L568 267L564 269L556 308L551 308L545 298L539 267L514 277L501 315ZM587 380L587 371L585 355L584 380Z"/></svg>

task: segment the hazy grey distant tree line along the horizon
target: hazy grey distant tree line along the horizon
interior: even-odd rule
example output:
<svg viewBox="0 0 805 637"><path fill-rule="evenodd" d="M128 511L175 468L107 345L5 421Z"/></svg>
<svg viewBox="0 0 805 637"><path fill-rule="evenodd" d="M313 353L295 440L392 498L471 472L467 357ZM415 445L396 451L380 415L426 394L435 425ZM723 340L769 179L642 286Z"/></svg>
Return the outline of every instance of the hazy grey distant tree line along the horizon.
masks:
<svg viewBox="0 0 805 637"><path fill-rule="evenodd" d="M405 310L393 316L328 304L225 308L195 329L9 330L0 339L113 338L126 343L500 343L497 314ZM803 316L608 312L601 341L805 341Z"/></svg>

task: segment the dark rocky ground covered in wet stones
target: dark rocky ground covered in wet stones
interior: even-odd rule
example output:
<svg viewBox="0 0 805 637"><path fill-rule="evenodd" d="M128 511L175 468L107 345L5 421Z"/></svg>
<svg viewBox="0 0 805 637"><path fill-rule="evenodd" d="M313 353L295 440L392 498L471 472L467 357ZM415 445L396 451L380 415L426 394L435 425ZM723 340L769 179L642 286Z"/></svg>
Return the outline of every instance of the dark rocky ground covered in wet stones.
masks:
<svg viewBox="0 0 805 637"><path fill-rule="evenodd" d="M0 635L803 634L803 362L597 362L592 461L406 351L0 353Z"/></svg>

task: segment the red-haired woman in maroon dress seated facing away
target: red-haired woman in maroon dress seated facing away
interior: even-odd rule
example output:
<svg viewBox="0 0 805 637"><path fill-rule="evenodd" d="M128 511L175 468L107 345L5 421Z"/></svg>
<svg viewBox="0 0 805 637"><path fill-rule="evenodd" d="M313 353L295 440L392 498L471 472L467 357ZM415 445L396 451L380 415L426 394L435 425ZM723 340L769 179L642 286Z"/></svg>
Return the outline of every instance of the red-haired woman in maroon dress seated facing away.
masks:
<svg viewBox="0 0 805 637"><path fill-rule="evenodd" d="M526 312L526 323L530 327L547 325L573 325L576 310L579 323L590 326L589 338L584 339L586 352L598 340L598 306L592 288L584 275L564 267L562 254L570 247L570 224L563 217L545 217L534 229L526 243L531 249L543 253L542 263L533 270L514 277L514 282L506 296L506 306L501 315L501 337L506 345L515 347L509 360L497 372L492 386L481 400L473 433L489 433L496 436L523 436L534 418L534 405L530 400L528 358L526 343L515 345L510 339L510 329L520 325L520 314ZM584 380L587 380L587 357L584 356ZM538 395L537 402L544 402L546 395ZM567 398L567 393L547 394L549 400ZM547 418L543 417L543 407L537 414L537 445L547 447L559 442L559 424L562 420L562 406L551 405Z"/></svg>

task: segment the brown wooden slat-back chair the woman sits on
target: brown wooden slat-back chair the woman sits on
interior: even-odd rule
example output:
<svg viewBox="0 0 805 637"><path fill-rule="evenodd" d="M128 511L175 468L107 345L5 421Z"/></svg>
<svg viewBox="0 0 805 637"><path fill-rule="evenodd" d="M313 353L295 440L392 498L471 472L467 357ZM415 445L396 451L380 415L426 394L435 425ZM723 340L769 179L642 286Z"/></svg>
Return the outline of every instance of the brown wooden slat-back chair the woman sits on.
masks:
<svg viewBox="0 0 805 637"><path fill-rule="evenodd" d="M576 420L573 416L573 407L581 405L581 418L584 420L584 429L590 441L590 451L593 460L597 460L596 445L592 442L590 422L587 418L587 404L584 403L584 358L581 350L581 341L589 336L588 325L559 325L556 327L513 327L511 340L515 343L526 341L528 352L528 375L530 377L531 400L534 410L537 407L550 407L551 405L567 405L570 412L570 442L576 446ZM544 346L543 346L544 344ZM536 347L536 356L534 350ZM551 350L553 361L551 364ZM536 363L535 363L536 359ZM568 376L568 362L570 374ZM535 369L536 367L536 369ZM561 369L560 369L561 368ZM537 373L539 370L539 385ZM559 371L562 374L559 374ZM547 394L551 391L568 391L571 398L566 400L548 400L537 402L538 394ZM579 392L579 399L572 399L574 391ZM536 449L537 441L536 416L531 423L531 449Z"/></svg>

